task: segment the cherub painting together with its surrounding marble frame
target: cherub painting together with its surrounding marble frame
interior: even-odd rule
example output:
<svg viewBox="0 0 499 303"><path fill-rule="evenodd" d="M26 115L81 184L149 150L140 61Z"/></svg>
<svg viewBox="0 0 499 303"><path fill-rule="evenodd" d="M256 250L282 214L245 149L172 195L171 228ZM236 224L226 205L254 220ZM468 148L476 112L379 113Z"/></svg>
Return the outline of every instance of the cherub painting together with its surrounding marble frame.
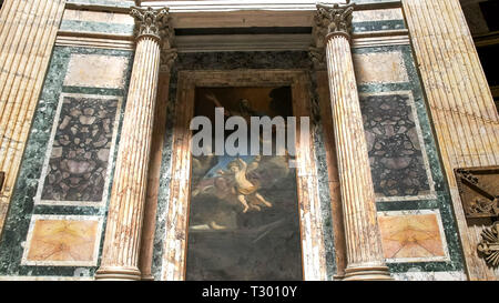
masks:
<svg viewBox="0 0 499 303"><path fill-rule="evenodd" d="M194 117L309 118L307 88L302 71L179 72L161 280L327 279L312 139L297 131L296 169L288 154L192 155Z"/></svg>

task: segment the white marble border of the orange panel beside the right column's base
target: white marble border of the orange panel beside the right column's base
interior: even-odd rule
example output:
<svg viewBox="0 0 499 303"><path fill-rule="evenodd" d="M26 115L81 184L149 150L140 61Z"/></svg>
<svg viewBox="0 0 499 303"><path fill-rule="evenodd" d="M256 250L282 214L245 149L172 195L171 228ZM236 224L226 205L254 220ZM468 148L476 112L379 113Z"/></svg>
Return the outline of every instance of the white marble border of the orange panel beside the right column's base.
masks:
<svg viewBox="0 0 499 303"><path fill-rule="evenodd" d="M437 216L438 231L440 232L441 246L445 256L432 256L432 257L394 257L385 259L387 263L413 263L413 262L447 262L450 261L449 249L447 246L447 239L444 232L444 224L441 222L440 211L438 209L434 210L410 210L410 211L385 211L378 212L378 218L380 216L401 216L401 215L421 215L421 214L435 214Z"/></svg>

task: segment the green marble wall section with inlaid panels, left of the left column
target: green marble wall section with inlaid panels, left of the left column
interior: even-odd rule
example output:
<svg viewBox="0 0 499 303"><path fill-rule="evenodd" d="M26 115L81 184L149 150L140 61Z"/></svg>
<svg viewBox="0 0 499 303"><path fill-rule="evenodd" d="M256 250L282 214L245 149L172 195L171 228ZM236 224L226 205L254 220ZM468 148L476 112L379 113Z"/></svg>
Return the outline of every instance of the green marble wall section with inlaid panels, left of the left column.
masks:
<svg viewBox="0 0 499 303"><path fill-rule="evenodd" d="M132 52L57 47L0 241L0 275L93 279Z"/></svg>

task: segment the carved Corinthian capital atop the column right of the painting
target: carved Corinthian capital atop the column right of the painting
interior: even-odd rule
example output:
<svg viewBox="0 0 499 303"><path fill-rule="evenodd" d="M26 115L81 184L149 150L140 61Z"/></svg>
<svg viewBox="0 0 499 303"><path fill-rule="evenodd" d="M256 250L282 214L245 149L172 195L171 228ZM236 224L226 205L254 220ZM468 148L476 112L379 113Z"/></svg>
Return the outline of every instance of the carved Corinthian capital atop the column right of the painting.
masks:
<svg viewBox="0 0 499 303"><path fill-rule="evenodd" d="M314 18L316 47L325 47L326 38L333 34L343 34L349 39L353 30L352 13L354 9L355 3L350 3L350 0L347 0L346 4L317 4L317 12Z"/></svg>

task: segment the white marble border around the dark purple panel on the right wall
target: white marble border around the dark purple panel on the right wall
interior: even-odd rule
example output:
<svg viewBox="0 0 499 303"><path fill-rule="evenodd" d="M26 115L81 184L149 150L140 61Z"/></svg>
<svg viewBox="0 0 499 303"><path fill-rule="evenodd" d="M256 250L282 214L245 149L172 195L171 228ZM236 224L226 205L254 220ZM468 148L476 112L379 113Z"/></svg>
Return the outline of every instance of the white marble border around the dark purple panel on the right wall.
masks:
<svg viewBox="0 0 499 303"><path fill-rule="evenodd" d="M363 97L378 97L378 95L394 95L394 94L407 95L409 98L408 105L410 105L410 109L413 111L413 119L414 119L416 132L418 134L419 145L421 148L421 154L422 154L422 162L424 162L426 175L428 179L429 192L426 194L419 194L419 195L399 195L399 196L378 196L378 195L376 195L376 202L436 200L437 193L435 191L435 181L431 175L431 169L429 165L428 154L426 151L425 140L422 138L421 125L419 123L419 117L418 117L418 112L416 109L416 103L414 100L413 91L369 92L369 93L359 93L359 97L363 98Z"/></svg>

